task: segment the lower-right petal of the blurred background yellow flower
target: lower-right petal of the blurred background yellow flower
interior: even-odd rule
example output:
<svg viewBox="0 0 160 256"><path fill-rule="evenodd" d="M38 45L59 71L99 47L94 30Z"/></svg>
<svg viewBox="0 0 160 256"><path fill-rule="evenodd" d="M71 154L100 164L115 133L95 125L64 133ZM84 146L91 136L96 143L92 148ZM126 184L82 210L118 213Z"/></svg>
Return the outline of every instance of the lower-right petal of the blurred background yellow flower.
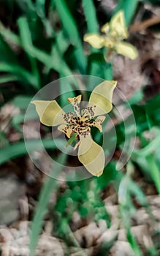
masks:
<svg viewBox="0 0 160 256"><path fill-rule="evenodd" d="M115 50L117 53L129 57L130 59L136 59L138 56L137 49L129 44L129 42L118 42L115 45Z"/></svg>

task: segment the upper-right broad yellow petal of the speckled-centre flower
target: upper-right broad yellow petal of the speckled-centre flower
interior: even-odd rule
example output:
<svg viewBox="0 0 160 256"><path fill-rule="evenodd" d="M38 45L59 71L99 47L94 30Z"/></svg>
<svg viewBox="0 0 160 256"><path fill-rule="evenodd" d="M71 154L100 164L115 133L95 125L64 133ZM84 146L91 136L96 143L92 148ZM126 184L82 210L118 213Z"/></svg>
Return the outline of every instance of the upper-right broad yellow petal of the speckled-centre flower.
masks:
<svg viewBox="0 0 160 256"><path fill-rule="evenodd" d="M94 109L94 116L104 115L112 110L113 90L116 84L116 81L104 81L94 88L89 99L89 105Z"/></svg>

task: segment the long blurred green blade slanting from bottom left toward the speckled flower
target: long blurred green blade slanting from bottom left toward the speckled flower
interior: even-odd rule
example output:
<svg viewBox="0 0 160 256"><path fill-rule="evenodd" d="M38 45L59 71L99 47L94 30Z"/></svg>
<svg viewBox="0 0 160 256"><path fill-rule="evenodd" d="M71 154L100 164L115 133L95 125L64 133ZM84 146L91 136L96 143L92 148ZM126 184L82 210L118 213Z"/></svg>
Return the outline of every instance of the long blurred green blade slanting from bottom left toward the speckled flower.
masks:
<svg viewBox="0 0 160 256"><path fill-rule="evenodd" d="M64 165L65 160L66 160L66 155L65 154L60 155L57 159L57 162L61 162L61 165L55 162L50 172L50 175L52 172L55 172L55 171L56 173L60 174L61 168ZM30 255L29 256L35 255L39 233L42 230L43 219L47 211L47 204L50 200L50 194L51 192L56 190L56 187L58 187L57 181L53 178L47 177L45 180L45 184L43 185L42 190L40 192L38 205L34 213L34 219L31 223L31 236L30 236L30 244L29 244Z"/></svg>

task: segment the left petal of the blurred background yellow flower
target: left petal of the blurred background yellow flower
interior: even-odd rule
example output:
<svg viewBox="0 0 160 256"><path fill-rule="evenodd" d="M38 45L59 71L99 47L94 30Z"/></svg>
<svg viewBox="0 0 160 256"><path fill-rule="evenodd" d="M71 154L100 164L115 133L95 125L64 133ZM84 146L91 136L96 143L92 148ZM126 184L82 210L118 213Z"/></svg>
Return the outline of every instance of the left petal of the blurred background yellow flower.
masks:
<svg viewBox="0 0 160 256"><path fill-rule="evenodd" d="M104 37L99 34L85 34L84 41L94 48L100 49L104 46Z"/></svg>

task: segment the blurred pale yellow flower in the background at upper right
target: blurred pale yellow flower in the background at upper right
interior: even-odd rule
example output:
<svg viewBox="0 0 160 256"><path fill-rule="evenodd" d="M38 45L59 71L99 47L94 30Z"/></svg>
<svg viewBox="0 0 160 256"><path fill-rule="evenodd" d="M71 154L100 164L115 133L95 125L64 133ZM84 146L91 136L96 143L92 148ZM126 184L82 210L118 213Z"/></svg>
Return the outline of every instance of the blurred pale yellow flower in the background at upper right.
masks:
<svg viewBox="0 0 160 256"><path fill-rule="evenodd" d="M107 47L130 59L137 58L137 49L129 44L129 42L123 42L123 39L129 37L123 11L116 13L110 20L110 23L102 26L101 31L104 33L103 35L85 34L84 41L88 42L94 48Z"/></svg>

